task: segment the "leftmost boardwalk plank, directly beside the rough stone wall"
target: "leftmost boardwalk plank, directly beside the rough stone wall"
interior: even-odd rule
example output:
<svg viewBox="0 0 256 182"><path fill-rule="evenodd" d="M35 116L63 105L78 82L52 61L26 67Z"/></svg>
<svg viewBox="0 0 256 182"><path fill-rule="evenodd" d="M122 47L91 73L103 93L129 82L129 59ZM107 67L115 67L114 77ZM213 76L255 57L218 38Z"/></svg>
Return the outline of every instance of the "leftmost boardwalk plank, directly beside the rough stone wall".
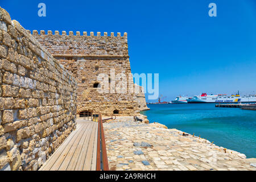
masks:
<svg viewBox="0 0 256 182"><path fill-rule="evenodd" d="M57 148L57 150L49 157L49 159L47 159L46 163L43 164L39 171L49 171L49 169L51 169L52 165L59 158L61 151L64 150L64 148L67 146L67 143L69 143L70 140L73 137L75 137L75 135L79 132L80 129L81 128L72 131L72 133L64 140L64 142L59 146L59 148Z"/></svg>

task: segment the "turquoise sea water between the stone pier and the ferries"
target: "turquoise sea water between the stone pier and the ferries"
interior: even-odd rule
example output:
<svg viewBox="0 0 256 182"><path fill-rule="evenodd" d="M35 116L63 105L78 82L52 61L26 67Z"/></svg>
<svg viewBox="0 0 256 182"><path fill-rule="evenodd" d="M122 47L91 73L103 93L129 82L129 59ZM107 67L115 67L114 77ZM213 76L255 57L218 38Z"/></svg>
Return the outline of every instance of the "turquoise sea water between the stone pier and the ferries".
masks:
<svg viewBox="0 0 256 182"><path fill-rule="evenodd" d="M159 122L189 134L201 135L217 146L256 158L256 111L220 108L215 104L149 104L142 111Z"/></svg>

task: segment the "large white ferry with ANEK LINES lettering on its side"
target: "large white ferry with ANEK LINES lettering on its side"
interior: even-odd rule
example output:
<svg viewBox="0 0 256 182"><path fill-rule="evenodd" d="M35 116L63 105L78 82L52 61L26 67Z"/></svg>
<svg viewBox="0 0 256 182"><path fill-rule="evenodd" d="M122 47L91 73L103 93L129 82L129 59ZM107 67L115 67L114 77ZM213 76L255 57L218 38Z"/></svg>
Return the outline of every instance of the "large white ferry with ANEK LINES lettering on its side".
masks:
<svg viewBox="0 0 256 182"><path fill-rule="evenodd" d="M194 96L187 100L188 103L236 103L236 102L256 102L256 96L240 96L238 94L227 96L226 94L210 95L207 93L201 94L201 96Z"/></svg>

